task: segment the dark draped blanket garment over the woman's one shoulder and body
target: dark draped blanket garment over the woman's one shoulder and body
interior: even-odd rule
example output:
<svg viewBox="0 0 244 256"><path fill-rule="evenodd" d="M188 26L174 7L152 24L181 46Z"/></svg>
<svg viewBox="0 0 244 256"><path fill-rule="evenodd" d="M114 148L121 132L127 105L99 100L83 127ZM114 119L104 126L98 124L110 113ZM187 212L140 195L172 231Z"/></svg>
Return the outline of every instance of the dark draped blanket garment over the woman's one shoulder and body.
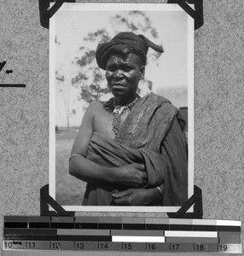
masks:
<svg viewBox="0 0 244 256"><path fill-rule="evenodd" d="M164 184L161 205L181 206L188 200L186 139L178 109L162 96L151 93L132 108L115 139L94 132L87 158L101 166L144 163L145 189ZM109 206L116 184L88 183L84 206Z"/></svg>

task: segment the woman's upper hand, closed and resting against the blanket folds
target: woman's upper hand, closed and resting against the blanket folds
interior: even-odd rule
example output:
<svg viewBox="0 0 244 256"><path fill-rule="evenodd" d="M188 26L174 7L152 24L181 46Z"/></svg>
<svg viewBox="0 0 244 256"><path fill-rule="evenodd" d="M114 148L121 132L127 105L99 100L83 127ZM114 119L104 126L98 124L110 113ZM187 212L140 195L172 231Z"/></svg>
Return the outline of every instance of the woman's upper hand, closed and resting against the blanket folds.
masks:
<svg viewBox="0 0 244 256"><path fill-rule="evenodd" d="M141 188L148 181L147 172L143 164L131 164L117 167L118 183L128 188Z"/></svg>

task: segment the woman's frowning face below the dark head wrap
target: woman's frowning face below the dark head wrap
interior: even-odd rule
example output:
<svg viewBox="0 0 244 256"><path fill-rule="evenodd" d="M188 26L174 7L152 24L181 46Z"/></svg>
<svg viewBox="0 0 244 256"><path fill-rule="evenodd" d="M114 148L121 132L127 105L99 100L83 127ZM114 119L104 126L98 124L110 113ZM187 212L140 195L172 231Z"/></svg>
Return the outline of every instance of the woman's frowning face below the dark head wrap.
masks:
<svg viewBox="0 0 244 256"><path fill-rule="evenodd" d="M107 61L105 75L113 96L135 96L143 71L144 67L139 56L132 53L126 57L111 55Z"/></svg>

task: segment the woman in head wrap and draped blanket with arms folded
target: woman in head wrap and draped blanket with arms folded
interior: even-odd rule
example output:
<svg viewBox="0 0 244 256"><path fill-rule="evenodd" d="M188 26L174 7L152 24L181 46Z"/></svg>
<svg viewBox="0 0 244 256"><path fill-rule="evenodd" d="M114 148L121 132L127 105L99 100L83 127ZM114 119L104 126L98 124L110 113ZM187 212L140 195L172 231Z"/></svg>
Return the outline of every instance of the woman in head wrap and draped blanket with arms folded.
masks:
<svg viewBox="0 0 244 256"><path fill-rule="evenodd" d="M182 205L187 200L185 137L178 110L164 97L140 98L148 47L142 35L121 32L99 44L113 98L92 102L73 144L69 172L87 182L83 205Z"/></svg>

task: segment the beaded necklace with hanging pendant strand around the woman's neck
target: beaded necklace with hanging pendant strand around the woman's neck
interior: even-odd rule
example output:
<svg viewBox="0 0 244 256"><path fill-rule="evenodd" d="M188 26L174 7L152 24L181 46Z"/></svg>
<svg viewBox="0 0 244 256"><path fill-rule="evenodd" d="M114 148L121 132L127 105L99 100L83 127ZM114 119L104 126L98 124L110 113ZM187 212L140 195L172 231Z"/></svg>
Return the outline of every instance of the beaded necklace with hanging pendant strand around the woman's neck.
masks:
<svg viewBox="0 0 244 256"><path fill-rule="evenodd" d="M119 127L121 124L121 118L120 118L121 114L124 113L125 110L127 110L128 108L131 109L139 99L140 99L140 96L137 95L136 99L133 102L126 104L125 106L121 106L121 105L116 105L115 98L113 97L104 104L103 108L105 108L110 113L113 112L112 131L114 132L115 135L117 135L119 131Z"/></svg>

